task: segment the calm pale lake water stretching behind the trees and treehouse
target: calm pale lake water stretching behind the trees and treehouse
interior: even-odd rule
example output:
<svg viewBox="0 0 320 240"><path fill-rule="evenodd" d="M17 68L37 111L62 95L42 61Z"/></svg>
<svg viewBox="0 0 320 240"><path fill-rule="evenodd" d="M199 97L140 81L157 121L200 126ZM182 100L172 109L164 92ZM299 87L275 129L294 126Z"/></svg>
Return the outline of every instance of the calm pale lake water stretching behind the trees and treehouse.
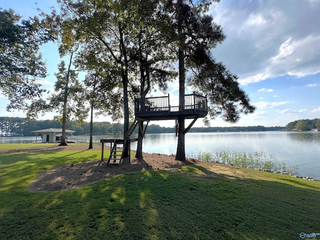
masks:
<svg viewBox="0 0 320 240"><path fill-rule="evenodd" d="M94 136L93 141L99 142L101 138L114 137L121 136ZM73 136L73 140L88 142L88 136ZM35 136L0 137L0 142L35 142ZM142 150L148 153L175 154L176 144L177 137L174 133L146 134ZM133 143L131 149L135 148L136 143ZM185 135L185 154L196 158L200 151L262 151L270 154L271 160L277 163L284 162L287 167L296 164L300 176L320 178L320 132L188 132Z"/></svg>

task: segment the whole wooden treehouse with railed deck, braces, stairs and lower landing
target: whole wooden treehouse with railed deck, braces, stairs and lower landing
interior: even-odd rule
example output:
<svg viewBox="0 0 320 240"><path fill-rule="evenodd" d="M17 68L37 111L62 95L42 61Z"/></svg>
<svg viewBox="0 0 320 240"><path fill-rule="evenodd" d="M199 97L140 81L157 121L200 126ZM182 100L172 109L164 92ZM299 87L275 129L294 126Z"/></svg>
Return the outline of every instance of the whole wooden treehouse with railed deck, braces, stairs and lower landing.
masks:
<svg viewBox="0 0 320 240"><path fill-rule="evenodd" d="M100 139L102 143L101 161L103 161L103 143L110 143L110 156L107 163L119 164L124 155L130 156L130 142L136 141L137 138L130 139L135 127L139 125L139 131L144 135L147 124L151 120L172 120L175 119L175 133L177 134L177 119L193 119L192 122L185 128L186 133L194 124L196 119L204 117L207 114L206 96L201 96L195 93L184 95L184 106L170 104L169 94L167 96L144 97L134 99L134 115L135 119L131 126L124 134L123 139ZM146 121L146 126L143 129L143 123ZM112 146L113 144L113 146ZM121 144L121 145L120 145ZM120 145L120 146L119 146ZM127 149L128 152L124 152Z"/></svg>

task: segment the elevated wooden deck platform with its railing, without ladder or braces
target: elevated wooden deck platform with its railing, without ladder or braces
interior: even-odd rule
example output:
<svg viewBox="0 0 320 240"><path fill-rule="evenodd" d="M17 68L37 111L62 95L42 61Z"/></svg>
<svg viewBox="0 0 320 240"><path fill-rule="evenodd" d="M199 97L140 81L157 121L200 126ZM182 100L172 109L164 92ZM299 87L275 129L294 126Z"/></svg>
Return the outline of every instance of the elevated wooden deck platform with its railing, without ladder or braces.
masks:
<svg viewBox="0 0 320 240"><path fill-rule="evenodd" d="M184 116L186 119L204 117L207 114L206 96L184 95L184 108L170 105L170 97L145 97L134 99L134 115L146 120L169 120Z"/></svg>

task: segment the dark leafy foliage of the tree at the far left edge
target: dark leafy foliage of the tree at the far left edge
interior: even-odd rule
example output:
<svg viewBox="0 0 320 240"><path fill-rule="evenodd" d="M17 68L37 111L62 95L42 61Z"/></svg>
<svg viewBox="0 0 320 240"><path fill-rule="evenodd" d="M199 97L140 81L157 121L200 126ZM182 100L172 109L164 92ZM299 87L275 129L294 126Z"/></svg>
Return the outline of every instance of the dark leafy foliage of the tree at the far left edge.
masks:
<svg viewBox="0 0 320 240"><path fill-rule="evenodd" d="M21 19L12 9L0 8L0 90L10 103L6 110L26 110L25 100L45 89L37 78L46 76L39 46L54 39L46 23L37 16Z"/></svg>

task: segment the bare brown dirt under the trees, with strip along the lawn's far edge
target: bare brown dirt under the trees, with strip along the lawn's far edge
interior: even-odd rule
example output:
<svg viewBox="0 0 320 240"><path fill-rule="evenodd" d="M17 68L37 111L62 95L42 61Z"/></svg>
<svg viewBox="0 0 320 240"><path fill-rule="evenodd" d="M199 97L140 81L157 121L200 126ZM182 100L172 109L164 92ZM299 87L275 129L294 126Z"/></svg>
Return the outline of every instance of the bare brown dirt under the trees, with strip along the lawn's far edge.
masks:
<svg viewBox="0 0 320 240"><path fill-rule="evenodd" d="M93 145L93 150L100 150L101 146ZM67 146L49 145L26 149L2 150L1 152L34 152L34 151L56 151L56 150L91 150L87 145L72 144ZM104 156L106 157L106 156ZM167 169L185 164L192 164L190 161L177 161L174 155L143 153L143 159L131 156L131 160L125 158L118 165L106 164L106 161L99 159L56 166L42 173L28 184L31 191L59 191L71 189L78 186L91 184L93 182L112 177L125 172Z"/></svg>

